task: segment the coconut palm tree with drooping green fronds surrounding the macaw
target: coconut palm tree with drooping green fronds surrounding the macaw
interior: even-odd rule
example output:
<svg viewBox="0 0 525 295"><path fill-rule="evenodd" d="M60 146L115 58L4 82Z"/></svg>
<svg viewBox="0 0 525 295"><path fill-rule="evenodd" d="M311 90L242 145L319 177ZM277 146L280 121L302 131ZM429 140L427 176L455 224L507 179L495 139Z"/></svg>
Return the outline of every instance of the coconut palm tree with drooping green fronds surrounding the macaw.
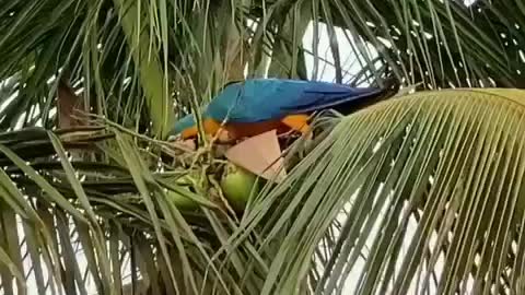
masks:
<svg viewBox="0 0 525 295"><path fill-rule="evenodd" d="M376 2L1 5L1 292L520 294L525 7ZM427 91L320 116L236 214L165 140L246 76Z"/></svg>

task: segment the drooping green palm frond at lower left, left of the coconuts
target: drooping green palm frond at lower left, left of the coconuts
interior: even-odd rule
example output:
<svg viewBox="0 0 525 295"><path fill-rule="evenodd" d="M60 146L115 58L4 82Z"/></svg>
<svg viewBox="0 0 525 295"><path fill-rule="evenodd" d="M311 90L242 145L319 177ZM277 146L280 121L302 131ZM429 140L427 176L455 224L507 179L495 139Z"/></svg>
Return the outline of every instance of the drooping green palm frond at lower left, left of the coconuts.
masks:
<svg viewBox="0 0 525 295"><path fill-rule="evenodd" d="M128 133L35 128L0 138L5 294L116 294L127 283L154 294L242 294L235 278L243 270L231 272L211 260L234 223L208 196L177 180L187 172L152 173L156 157ZM80 149L101 156L115 144L119 150L109 148L106 164L68 155ZM202 209L179 206L180 199Z"/></svg>

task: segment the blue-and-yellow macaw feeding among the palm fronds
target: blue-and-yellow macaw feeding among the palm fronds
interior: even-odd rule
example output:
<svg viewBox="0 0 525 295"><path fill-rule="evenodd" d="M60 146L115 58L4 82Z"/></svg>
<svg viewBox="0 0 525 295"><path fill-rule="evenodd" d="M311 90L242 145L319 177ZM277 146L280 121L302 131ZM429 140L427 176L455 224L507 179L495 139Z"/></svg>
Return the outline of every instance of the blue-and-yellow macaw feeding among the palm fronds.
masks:
<svg viewBox="0 0 525 295"><path fill-rule="evenodd" d="M312 113L350 109L370 105L384 94L385 88L350 87L327 82L282 79L250 79L228 84L203 110L202 123L207 134L214 135L221 128L230 140L242 139L277 129L307 132ZM197 137L192 114L178 120L170 135L183 139Z"/></svg>

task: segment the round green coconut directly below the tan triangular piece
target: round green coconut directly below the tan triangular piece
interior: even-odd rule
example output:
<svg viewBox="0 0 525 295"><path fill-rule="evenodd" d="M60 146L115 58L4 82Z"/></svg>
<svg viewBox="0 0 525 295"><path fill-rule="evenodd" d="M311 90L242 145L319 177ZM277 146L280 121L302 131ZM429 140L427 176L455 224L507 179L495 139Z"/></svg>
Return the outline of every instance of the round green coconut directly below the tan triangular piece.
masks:
<svg viewBox="0 0 525 295"><path fill-rule="evenodd" d="M257 175L230 163L221 179L221 189L235 211L244 211L252 190L254 193L259 190Z"/></svg>

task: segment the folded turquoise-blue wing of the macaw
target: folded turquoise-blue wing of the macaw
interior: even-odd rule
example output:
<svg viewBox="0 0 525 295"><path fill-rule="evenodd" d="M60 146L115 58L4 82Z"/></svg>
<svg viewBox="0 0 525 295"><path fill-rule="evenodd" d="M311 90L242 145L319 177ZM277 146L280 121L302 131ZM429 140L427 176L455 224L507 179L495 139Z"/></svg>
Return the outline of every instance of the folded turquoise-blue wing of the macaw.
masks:
<svg viewBox="0 0 525 295"><path fill-rule="evenodd" d="M375 97L382 88L355 88L327 82L253 79L225 87L208 106L215 120L260 122Z"/></svg>

